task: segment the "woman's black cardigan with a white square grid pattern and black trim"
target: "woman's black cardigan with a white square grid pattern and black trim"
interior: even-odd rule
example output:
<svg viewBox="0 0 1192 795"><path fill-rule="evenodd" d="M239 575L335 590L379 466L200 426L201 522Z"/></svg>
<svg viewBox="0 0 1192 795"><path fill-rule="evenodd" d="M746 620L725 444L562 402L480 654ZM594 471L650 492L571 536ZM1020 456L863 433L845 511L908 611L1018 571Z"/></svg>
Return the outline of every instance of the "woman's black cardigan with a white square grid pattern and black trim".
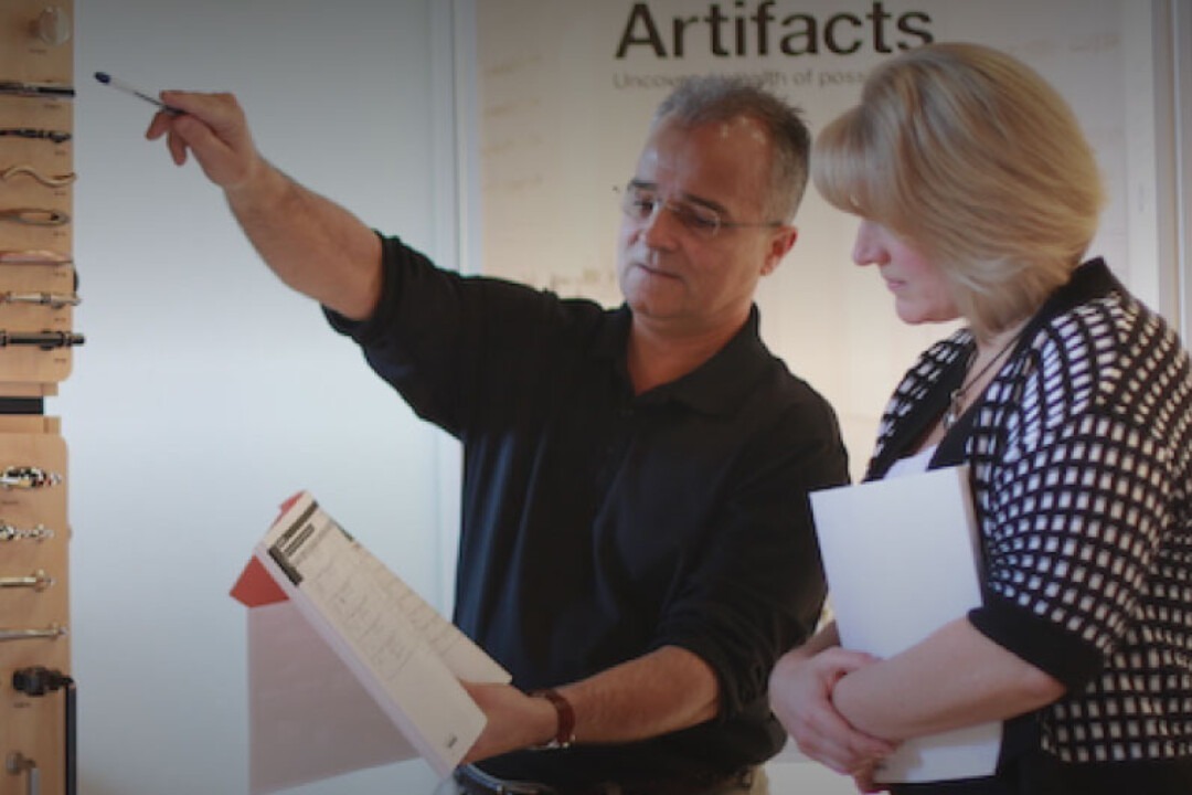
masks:
<svg viewBox="0 0 1192 795"><path fill-rule="evenodd" d="M938 420L971 347L958 331L906 374L868 478ZM931 466L962 461L986 557L969 619L1068 687L1033 741L1063 762L1192 762L1192 368L1177 335L1085 263Z"/></svg>

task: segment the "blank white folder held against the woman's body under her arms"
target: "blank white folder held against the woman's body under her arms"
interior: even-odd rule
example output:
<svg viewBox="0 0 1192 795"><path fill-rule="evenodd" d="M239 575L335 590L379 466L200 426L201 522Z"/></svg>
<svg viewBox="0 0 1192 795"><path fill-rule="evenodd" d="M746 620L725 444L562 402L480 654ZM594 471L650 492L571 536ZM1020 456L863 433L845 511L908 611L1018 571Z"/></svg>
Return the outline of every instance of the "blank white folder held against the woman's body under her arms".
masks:
<svg viewBox="0 0 1192 795"><path fill-rule="evenodd" d="M840 644L893 657L981 604L980 546L967 467L812 493ZM987 776L1001 723L904 743L881 782Z"/></svg>

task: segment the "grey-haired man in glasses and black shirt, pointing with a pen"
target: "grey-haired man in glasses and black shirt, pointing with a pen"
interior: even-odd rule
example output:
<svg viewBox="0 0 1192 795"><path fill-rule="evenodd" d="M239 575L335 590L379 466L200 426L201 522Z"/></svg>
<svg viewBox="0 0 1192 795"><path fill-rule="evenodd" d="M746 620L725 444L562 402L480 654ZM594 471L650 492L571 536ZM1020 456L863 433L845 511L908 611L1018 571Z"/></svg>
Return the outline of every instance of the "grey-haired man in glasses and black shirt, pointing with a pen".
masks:
<svg viewBox="0 0 1192 795"><path fill-rule="evenodd" d="M606 310L440 271L266 162L232 97L163 99L148 136L464 443L455 621L514 685L468 685L489 723L442 791L764 791L768 675L825 592L807 492L848 478L753 306L796 237L797 112L722 77L660 106Z"/></svg>

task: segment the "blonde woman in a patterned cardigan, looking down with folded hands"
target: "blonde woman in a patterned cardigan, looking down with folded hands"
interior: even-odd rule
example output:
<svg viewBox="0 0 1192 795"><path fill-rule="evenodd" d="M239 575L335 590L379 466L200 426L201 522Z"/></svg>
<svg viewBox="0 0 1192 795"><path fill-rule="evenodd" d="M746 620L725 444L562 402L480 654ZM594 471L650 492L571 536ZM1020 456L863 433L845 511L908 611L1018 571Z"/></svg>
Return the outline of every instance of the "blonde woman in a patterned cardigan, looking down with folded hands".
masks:
<svg viewBox="0 0 1192 795"><path fill-rule="evenodd" d="M887 406L867 479L967 462L982 607L884 660L827 627L775 669L805 753L879 791L899 741L1005 721L989 778L894 793L1192 793L1192 368L1100 260L1093 153L998 51L875 69L813 178L907 323L962 318Z"/></svg>

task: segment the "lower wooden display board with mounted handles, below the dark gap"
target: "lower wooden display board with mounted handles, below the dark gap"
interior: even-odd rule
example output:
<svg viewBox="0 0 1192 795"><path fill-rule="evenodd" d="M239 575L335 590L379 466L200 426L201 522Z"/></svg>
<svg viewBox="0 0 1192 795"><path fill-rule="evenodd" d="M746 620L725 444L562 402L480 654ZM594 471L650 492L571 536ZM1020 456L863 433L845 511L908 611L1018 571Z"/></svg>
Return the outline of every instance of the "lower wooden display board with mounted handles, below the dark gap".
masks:
<svg viewBox="0 0 1192 795"><path fill-rule="evenodd" d="M18 433L13 433L18 430ZM29 433L19 433L29 431ZM69 633L70 529L67 517L67 446L50 417L0 418L0 471L35 466L61 477L61 483L35 490L0 487L0 522L29 529L38 524L52 538L0 541L0 577L44 572L43 589L0 588L0 629L48 629ZM0 762L19 752L38 766L42 793L62 793L64 778L64 689L26 695L12 687L13 673L43 666L69 676L70 636L0 640ZM26 795L27 774L0 772L0 795Z"/></svg>

